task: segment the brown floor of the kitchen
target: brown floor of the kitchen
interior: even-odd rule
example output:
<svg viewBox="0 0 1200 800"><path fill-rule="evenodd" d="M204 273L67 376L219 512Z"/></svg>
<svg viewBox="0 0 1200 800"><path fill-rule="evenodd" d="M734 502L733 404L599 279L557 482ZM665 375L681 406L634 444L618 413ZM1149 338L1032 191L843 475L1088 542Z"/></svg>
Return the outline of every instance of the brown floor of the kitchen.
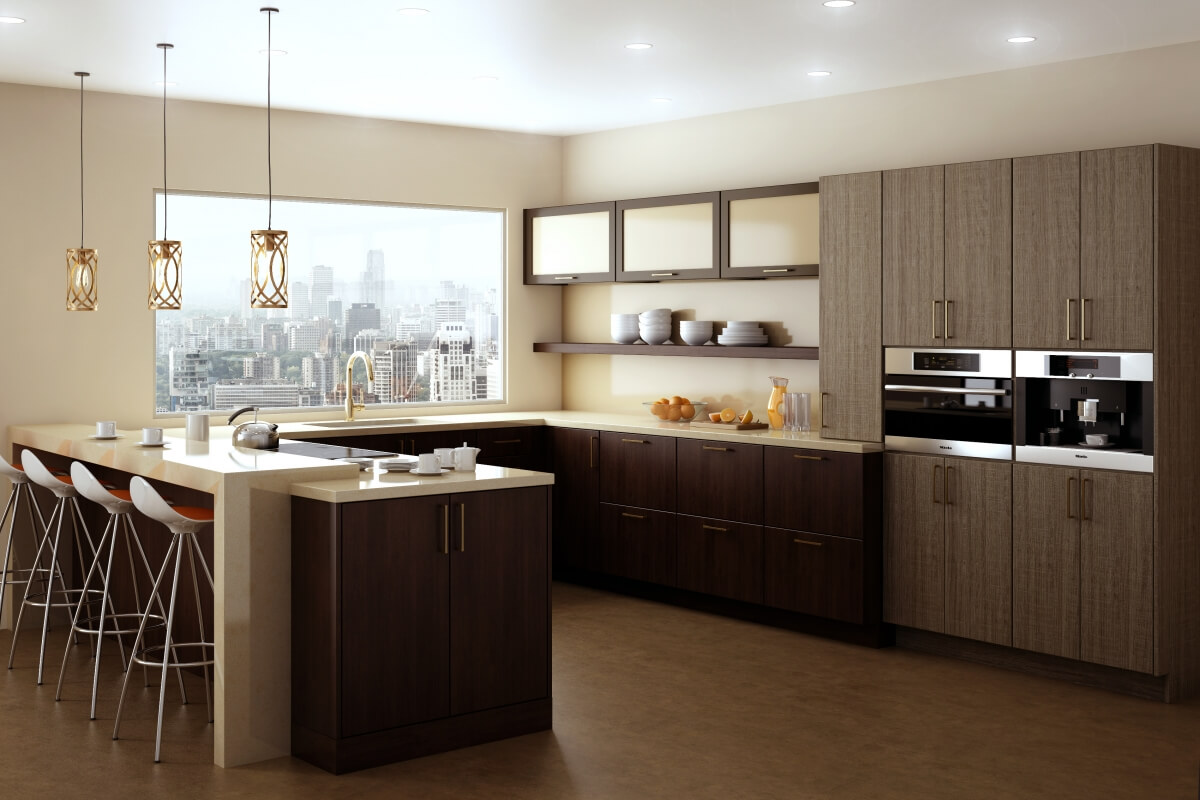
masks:
<svg viewBox="0 0 1200 800"><path fill-rule="evenodd" d="M0 632L0 652L8 640ZM32 636L16 668L0 670L0 796L1198 796L1195 702L1162 705L571 585L554 588L552 733L340 777L288 758L212 766L198 682L193 705L168 708L155 765L156 691L132 696L134 716L112 741L119 673L106 669L101 718L88 722L85 654L72 657L61 703L59 646L44 686L34 685Z"/></svg>

